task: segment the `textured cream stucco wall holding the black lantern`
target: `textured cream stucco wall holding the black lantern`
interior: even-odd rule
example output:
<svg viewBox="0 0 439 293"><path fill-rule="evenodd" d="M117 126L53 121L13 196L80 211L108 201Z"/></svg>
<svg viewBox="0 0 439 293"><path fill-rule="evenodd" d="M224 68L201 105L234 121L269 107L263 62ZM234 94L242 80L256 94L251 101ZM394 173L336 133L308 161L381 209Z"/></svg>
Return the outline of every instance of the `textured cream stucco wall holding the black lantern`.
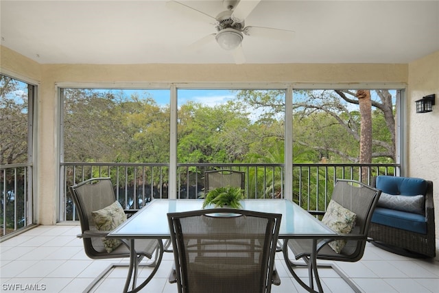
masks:
<svg viewBox="0 0 439 293"><path fill-rule="evenodd" d="M407 173L433 181L436 239L439 237L439 51L411 62L407 99ZM433 112L416 114L414 101L436 94ZM436 247L439 246L436 240ZM439 255L438 255L439 257Z"/></svg>

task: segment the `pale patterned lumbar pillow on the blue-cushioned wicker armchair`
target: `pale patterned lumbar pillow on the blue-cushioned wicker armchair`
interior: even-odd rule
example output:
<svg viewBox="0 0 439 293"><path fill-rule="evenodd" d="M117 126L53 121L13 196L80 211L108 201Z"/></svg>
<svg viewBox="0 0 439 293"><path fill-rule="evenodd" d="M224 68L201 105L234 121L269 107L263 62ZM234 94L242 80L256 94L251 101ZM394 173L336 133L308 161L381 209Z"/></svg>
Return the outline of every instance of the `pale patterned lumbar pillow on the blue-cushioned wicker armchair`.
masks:
<svg viewBox="0 0 439 293"><path fill-rule="evenodd" d="M396 209L398 211L407 211L409 213L419 213L424 215L425 196L394 196L393 194L385 194L381 192L377 207L385 207L387 209Z"/></svg>

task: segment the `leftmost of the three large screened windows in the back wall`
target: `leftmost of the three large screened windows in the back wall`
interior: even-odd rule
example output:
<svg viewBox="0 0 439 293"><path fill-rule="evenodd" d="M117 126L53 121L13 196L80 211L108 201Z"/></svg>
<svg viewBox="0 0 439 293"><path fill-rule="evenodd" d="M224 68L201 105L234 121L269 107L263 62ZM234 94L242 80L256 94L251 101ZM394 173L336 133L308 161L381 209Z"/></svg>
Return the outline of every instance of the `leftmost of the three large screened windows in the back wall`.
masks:
<svg viewBox="0 0 439 293"><path fill-rule="evenodd" d="M69 186L110 177L126 209L167 197L169 90L60 89L60 220L77 220Z"/></svg>

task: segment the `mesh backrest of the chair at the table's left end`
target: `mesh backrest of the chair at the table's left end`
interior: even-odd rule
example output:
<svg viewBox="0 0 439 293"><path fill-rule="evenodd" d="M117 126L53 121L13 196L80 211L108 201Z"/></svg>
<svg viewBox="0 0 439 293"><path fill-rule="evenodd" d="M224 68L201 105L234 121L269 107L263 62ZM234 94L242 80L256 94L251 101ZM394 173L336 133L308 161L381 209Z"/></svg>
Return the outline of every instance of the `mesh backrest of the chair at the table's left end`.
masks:
<svg viewBox="0 0 439 293"><path fill-rule="evenodd" d="M91 212L108 207L116 200L110 178L91 178L71 186L70 190L80 218L82 233L89 230L96 231ZM89 257L96 257L105 251L102 239L95 237L83 238L83 240Z"/></svg>

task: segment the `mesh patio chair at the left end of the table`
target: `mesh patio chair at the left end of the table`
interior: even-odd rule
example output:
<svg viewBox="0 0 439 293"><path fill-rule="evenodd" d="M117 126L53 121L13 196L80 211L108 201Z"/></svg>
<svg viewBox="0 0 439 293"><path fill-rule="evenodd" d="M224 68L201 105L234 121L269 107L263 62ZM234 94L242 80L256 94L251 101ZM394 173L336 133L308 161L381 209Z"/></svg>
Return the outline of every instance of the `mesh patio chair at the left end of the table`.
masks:
<svg viewBox="0 0 439 293"><path fill-rule="evenodd" d="M71 186L70 191L73 202L75 202L78 217L80 218L81 234L78 235L78 237L82 238L84 242L86 255L91 259L129 258L130 245L127 241L122 241L122 244L111 253L107 252L104 247L104 242L102 242L102 238L110 233L110 231L98 231L91 216L92 211L98 211L99 209L108 207L116 201L110 178L91 178L82 183ZM143 257L152 259L154 252L157 251L157 247L157 240L136 240L135 250L137 252L137 263L136 266L134 266L133 288L135 287L139 263ZM115 266L128 266L128 264L112 264L102 272L102 274L100 274L95 281L88 286L88 288L86 288L86 291L91 290L99 279L102 279L102 277L104 277L104 275ZM147 266L155 266L155 260L152 261L152 263L148 263ZM157 268L158 266L154 268L150 278L155 274ZM132 279L131 276L128 276L126 288L128 288L130 279Z"/></svg>

